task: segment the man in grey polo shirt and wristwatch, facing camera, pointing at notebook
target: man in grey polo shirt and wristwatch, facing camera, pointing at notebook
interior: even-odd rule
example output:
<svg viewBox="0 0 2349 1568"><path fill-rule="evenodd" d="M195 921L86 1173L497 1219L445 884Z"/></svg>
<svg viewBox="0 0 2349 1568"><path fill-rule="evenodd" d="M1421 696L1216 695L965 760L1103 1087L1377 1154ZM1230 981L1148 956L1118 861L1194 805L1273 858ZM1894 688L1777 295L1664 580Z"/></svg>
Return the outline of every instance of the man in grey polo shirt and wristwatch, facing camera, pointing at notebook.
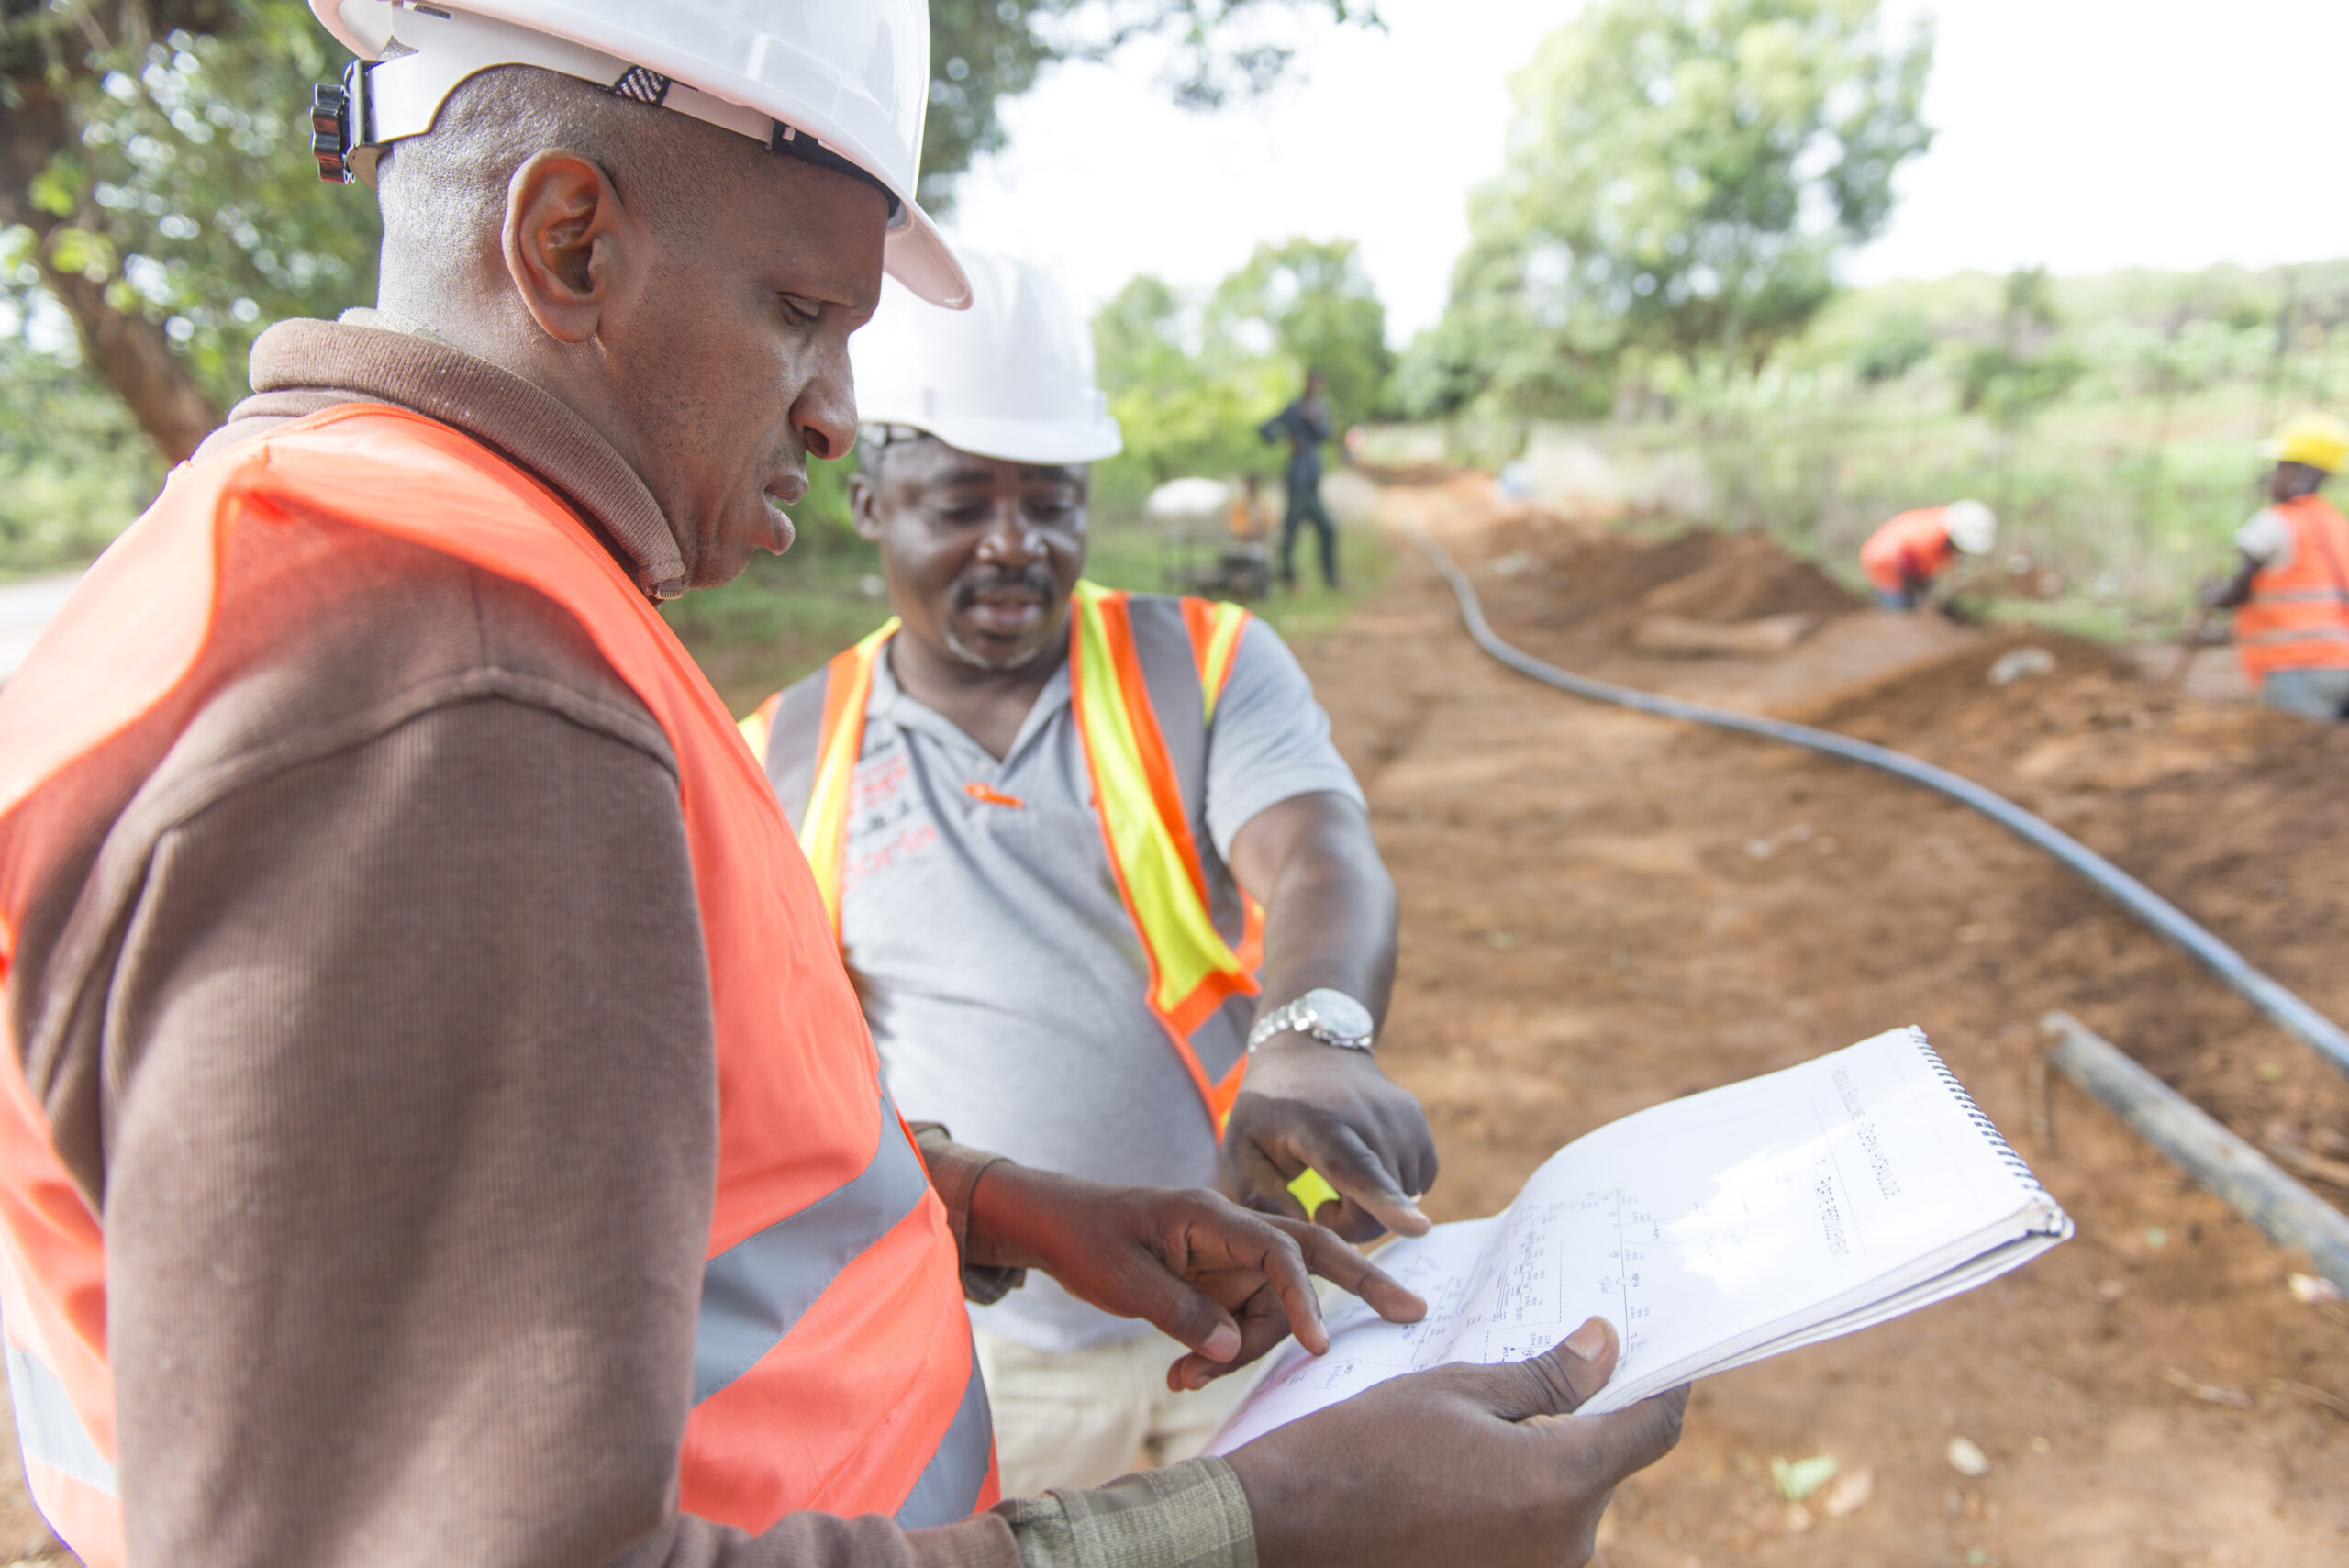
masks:
<svg viewBox="0 0 2349 1568"><path fill-rule="evenodd" d="M1120 446L1090 333L1041 270L961 256L968 312L886 289L853 340L850 505L897 620L745 721L890 1091L1092 1181L1304 1218L1313 1169L1327 1223L1416 1235L1435 1148L1374 1056L1395 892L1362 791L1271 627L1083 582ZM1186 1458L1229 1406L1050 1282L972 1317L1012 1491Z"/></svg>

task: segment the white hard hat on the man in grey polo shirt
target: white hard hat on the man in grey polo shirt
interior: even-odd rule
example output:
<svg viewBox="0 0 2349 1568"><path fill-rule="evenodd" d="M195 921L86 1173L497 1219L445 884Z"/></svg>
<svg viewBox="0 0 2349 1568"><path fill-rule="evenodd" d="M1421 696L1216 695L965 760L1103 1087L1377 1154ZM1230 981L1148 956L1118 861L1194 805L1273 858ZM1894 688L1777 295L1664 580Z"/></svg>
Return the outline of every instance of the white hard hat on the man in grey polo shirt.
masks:
<svg viewBox="0 0 2349 1568"><path fill-rule="evenodd" d="M1092 329L1041 268L956 246L970 310L949 315L881 284L874 319L848 338L857 420L911 425L1005 462L1092 462L1125 446L1092 383Z"/></svg>

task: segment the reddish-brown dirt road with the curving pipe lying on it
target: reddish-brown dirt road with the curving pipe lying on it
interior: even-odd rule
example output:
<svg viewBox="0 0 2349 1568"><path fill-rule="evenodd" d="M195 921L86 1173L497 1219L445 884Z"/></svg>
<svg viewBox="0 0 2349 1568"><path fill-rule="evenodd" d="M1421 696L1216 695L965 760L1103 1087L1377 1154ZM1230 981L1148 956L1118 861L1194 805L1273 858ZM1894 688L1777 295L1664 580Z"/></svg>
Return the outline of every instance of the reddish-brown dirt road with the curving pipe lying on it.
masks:
<svg viewBox="0 0 2349 1568"><path fill-rule="evenodd" d="M1672 573L1586 601L1604 559L1466 526L1456 498L1393 505L1449 523L1503 634L1543 657L1579 653L1604 674L1783 711L1839 709L1877 730L1900 728L1879 707L1891 695L1898 709L1905 683L1992 690L1971 638L1877 613L1842 617L1778 662L1602 653L1602 606L1670 603ZM1546 615L1562 603L1569 615ZM1954 805L1510 676L1456 631L1449 594L1416 561L1304 653L1402 887L1402 984L1381 1054L1435 1117L1442 1218L1492 1211L1557 1145L1640 1106L1921 1023L2081 1228L1976 1296L1703 1385L1687 1444L1618 1498L1604 1561L2314 1568L2349 1556L2349 1406L2321 1404L2349 1394L2349 1312L2293 1300L2283 1253L2067 1087L2053 1094L2058 1148L2022 1138L2032 1023L2048 1007L2123 1045L2152 1040L2152 1061L2173 1077L2182 1063L2206 1103L2225 1087L2236 1124L2297 1110L2302 1136L2349 1131L2349 1084ZM1863 678L1900 664L1914 667L1905 683ZM2276 744L2300 735L2241 718ZM2006 746L2051 739L2062 737L2025 725ZM2128 768L2119 742L2074 751L2041 758L2046 791L2060 793L2065 768ZM2241 737L2217 751L2241 761ZM2340 763L2330 756L2333 779ZM2128 859L2109 838L2159 803L2123 805L2138 817L2074 803L2065 826ZM2337 908L2349 861L2333 850L2337 838L2311 845L2314 866L2248 854L2201 866L2199 901L2234 890L2246 906ZM2135 869L2159 885L2156 866ZM2316 930L2328 932L2337 925ZM2274 922L2227 934L2349 1016L2337 946ZM1983 1448L1987 1476L1952 1469L1952 1437ZM1773 1493L1771 1458L1818 1453L1846 1476L1867 1472L1865 1502L1830 1516L1825 1493L1799 1512ZM1856 1491L1846 1481L1844 1500Z"/></svg>

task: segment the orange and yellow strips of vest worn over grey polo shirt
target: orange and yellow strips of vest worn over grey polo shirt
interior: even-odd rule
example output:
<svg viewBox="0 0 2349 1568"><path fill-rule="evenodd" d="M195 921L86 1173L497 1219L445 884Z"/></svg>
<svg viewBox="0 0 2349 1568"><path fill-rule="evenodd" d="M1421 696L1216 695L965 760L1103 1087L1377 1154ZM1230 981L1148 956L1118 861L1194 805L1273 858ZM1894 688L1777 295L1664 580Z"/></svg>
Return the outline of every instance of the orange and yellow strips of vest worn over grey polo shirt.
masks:
<svg viewBox="0 0 2349 1568"><path fill-rule="evenodd" d="M1247 610L1214 599L1182 599L1184 631L1198 671L1203 723L1214 721L1214 699L1231 681L1231 662L1247 631ZM864 707L874 688L874 664L895 636L890 620L855 648L836 655L824 674L824 716L817 732L815 777L801 843L815 883L841 920L841 871L848 854L848 805L857 756L864 751ZM742 721L742 737L761 761L773 742L782 692ZM1092 805L1102 822L1102 845L1118 883L1118 897L1149 960L1144 998L1165 1028L1191 1084L1207 1106L1217 1138L1240 1094L1247 1054L1221 1047L1203 1054L1200 1026L1233 995L1257 993L1264 962L1264 908L1243 894L1238 946L1214 925L1207 871L1184 810L1182 782L1167 751L1158 711L1151 707L1142 653L1135 643L1132 603L1120 589L1078 582L1069 613L1069 709L1092 777Z"/></svg>

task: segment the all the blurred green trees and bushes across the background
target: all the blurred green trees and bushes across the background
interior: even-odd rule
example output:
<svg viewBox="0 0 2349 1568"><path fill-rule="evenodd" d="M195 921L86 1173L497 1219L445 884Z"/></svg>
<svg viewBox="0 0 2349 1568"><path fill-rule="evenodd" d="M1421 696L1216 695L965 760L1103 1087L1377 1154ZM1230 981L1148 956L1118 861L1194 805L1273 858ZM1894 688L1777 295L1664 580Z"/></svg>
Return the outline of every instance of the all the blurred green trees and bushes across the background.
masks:
<svg viewBox="0 0 2349 1568"><path fill-rule="evenodd" d="M1348 0L933 0L926 202L951 211L1059 61L1149 40L1174 101L1261 92L1290 59L1245 21L1280 7L1377 26ZM1877 0L1590 0L1515 75L1449 303L1400 352L1341 235L1212 289L1135 277L1095 319L1128 441L1095 474L1102 570L1153 580L1158 545L1120 533L1153 486L1278 477L1254 430L1320 366L1377 453L1550 488L1597 467L1602 512L1830 566L1893 509L1978 495L2008 521L1992 613L2175 624L2253 505L2255 439L2349 392L2349 261L1844 289L1931 146L1931 59ZM0 573L87 561L263 326L371 298L373 204L303 146L341 66L301 0L0 0ZM869 624L839 472L799 523L789 563L679 620L810 648Z"/></svg>

